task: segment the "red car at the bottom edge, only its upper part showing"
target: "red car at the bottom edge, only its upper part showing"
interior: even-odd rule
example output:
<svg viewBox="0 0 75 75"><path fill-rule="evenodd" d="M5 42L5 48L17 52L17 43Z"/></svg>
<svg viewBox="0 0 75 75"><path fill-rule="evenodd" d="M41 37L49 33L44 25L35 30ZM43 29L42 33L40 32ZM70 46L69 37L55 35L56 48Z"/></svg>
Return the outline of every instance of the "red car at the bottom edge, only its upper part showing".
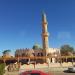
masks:
<svg viewBox="0 0 75 75"><path fill-rule="evenodd" d="M47 74L39 70L30 70L30 71L22 72L20 73L20 75L52 75L52 74Z"/></svg>

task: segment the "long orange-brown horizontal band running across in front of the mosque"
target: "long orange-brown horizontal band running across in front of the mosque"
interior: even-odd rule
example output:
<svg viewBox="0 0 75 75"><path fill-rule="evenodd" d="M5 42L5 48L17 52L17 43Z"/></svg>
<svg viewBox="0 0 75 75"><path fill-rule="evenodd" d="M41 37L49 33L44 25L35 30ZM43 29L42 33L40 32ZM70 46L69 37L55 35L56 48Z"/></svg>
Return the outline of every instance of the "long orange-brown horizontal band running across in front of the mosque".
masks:
<svg viewBox="0 0 75 75"><path fill-rule="evenodd" d="M34 56L34 57L1 57L0 60L18 60L18 59L46 59L46 58L58 58L58 59L68 59L68 58L75 58L75 56L60 56L60 57L55 57L55 56Z"/></svg>

